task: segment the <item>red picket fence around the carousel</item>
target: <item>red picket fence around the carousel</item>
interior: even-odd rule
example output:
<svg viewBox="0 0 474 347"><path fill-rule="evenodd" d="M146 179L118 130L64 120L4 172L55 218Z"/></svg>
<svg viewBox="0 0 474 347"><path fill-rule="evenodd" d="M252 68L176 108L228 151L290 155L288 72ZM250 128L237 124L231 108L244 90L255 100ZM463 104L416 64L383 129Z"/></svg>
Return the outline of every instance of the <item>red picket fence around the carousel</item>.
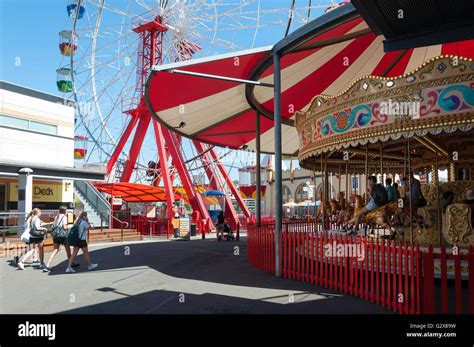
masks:
<svg viewBox="0 0 474 347"><path fill-rule="evenodd" d="M474 313L474 271L468 274L468 306L463 306L461 280L462 261L468 263L469 270L474 268L472 247L463 255L447 254L445 248L435 254L431 246L423 252L418 244L318 229L315 223L283 223L281 276L355 295L403 314L435 313L435 302L441 303L441 313L448 313L450 298L456 313ZM274 224L248 225L247 253L251 265L275 274ZM449 260L454 263L452 295L448 291ZM440 290L435 283L437 263L441 264Z"/></svg>

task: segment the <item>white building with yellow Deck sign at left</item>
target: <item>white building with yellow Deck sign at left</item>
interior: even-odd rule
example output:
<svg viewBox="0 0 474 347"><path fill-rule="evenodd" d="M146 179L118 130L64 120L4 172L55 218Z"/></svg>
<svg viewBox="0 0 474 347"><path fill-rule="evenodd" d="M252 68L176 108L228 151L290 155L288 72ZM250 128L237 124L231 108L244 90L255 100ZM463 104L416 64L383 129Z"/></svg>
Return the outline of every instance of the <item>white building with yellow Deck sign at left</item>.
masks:
<svg viewBox="0 0 474 347"><path fill-rule="evenodd" d="M73 104L0 81L0 213L72 207L74 180L103 179L74 167Z"/></svg>

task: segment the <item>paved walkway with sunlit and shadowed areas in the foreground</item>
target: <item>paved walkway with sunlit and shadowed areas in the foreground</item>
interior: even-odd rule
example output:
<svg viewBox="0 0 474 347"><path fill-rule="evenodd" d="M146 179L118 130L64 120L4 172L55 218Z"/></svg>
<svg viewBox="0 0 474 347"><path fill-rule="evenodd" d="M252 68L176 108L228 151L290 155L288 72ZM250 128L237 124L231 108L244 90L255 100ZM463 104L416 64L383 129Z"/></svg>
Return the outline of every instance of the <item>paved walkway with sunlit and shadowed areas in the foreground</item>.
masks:
<svg viewBox="0 0 474 347"><path fill-rule="evenodd" d="M245 238L92 245L90 251L98 270L82 264L75 274L64 273L64 251L49 274L20 271L0 258L0 313L389 313L254 269Z"/></svg>

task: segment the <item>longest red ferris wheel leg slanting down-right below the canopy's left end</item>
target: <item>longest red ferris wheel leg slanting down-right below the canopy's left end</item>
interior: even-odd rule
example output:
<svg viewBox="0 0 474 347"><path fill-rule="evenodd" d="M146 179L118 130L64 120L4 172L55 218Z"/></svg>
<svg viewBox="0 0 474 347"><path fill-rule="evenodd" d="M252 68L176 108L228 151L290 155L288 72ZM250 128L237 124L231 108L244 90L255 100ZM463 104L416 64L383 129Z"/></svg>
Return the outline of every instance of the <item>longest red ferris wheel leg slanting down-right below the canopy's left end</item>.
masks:
<svg viewBox="0 0 474 347"><path fill-rule="evenodd" d="M171 154L173 164L176 170L178 170L178 175L181 179L181 183L183 184L183 188L186 192L186 195L188 196L191 207L194 211L199 211L202 218L208 221L209 227L213 228L214 225L212 223L211 216L209 215L209 212L207 211L206 206L204 205L204 201L201 195L196 192L196 189L194 189L194 185L191 181L191 176L186 168L183 155L181 154L181 151L179 149L179 141L176 135L169 129L163 129L163 138L165 139L166 144L168 145L168 150Z"/></svg>

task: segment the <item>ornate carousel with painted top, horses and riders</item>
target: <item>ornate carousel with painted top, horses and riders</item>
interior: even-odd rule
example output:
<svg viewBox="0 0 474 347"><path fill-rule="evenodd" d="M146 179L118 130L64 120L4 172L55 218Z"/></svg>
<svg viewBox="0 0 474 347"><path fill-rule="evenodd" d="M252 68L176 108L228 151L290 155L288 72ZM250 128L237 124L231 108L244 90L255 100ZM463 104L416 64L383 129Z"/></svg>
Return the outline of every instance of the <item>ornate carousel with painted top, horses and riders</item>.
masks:
<svg viewBox="0 0 474 347"><path fill-rule="evenodd" d="M358 78L296 112L300 165L326 177L324 229L348 231L357 221L372 237L474 245L473 81L472 59L441 55L402 76ZM345 177L332 200L330 173ZM364 189L353 190L354 176ZM395 183L396 194L356 219L371 176Z"/></svg>

